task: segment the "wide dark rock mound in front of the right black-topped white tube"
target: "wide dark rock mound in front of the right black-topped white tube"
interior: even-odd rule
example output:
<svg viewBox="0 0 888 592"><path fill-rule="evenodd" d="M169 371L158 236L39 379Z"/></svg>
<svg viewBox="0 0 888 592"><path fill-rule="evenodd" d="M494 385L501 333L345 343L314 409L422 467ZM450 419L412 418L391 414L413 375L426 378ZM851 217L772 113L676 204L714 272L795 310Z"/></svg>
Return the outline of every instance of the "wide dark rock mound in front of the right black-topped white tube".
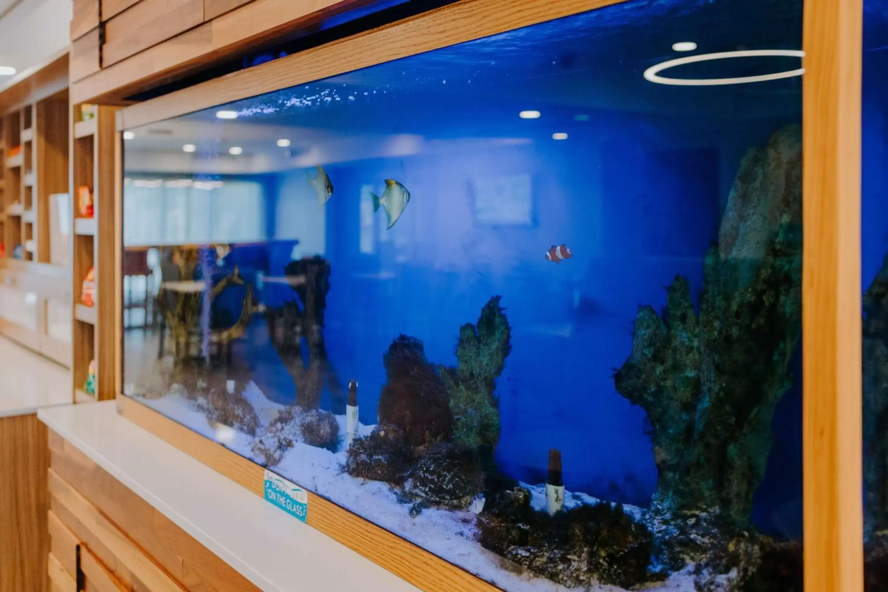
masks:
<svg viewBox="0 0 888 592"><path fill-rule="evenodd" d="M581 505L550 516L531 507L523 487L497 493L488 504L478 517L481 545L567 588L631 588L656 577L648 570L653 537L620 505Z"/></svg>

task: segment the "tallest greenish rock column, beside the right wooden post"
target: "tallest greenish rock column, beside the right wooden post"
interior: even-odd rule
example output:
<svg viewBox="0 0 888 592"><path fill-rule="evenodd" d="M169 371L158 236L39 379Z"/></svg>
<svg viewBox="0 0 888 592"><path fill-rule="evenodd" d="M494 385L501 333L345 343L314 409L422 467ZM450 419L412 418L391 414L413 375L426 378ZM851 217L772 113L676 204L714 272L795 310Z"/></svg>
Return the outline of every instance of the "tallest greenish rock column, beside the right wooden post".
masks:
<svg viewBox="0 0 888 592"><path fill-rule="evenodd" d="M651 424L652 528L667 553L682 532L694 541L700 513L731 533L750 528L801 333L800 138L797 126L784 128L743 159L705 257L699 312L677 277L661 314L639 309L630 358L614 375ZM689 547L687 559L705 554Z"/></svg>

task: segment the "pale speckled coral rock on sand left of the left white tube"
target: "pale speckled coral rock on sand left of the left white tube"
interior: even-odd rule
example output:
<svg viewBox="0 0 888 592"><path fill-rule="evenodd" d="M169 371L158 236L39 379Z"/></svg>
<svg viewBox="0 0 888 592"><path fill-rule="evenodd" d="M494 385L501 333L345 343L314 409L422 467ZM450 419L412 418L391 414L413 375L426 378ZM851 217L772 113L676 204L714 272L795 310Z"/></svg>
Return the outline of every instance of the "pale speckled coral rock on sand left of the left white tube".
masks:
<svg viewBox="0 0 888 592"><path fill-rule="evenodd" d="M338 441L339 424L333 414L294 405L281 411L268 424L252 448L259 462L274 467L297 442L324 448L335 446Z"/></svg>

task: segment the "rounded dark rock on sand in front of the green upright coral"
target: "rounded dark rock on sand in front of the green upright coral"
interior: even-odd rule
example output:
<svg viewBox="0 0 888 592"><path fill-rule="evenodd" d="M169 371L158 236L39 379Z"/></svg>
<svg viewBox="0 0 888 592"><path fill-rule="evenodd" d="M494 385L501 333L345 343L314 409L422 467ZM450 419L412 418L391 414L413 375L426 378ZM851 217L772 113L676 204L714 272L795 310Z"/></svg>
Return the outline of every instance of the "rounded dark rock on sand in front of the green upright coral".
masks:
<svg viewBox="0 0 888 592"><path fill-rule="evenodd" d="M484 488L478 459L449 443L432 444L410 471L408 493L439 508L465 509Z"/></svg>

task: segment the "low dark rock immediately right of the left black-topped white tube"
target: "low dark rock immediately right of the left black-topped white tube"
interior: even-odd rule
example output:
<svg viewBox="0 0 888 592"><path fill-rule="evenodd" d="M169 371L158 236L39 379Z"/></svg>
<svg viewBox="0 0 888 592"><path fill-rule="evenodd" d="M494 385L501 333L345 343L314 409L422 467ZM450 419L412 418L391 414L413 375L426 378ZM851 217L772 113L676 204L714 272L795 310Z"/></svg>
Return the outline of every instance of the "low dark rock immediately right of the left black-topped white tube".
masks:
<svg viewBox="0 0 888 592"><path fill-rule="evenodd" d="M381 424L369 436L352 443L345 472L352 477L400 484L413 462L413 451L404 430L396 425Z"/></svg>

